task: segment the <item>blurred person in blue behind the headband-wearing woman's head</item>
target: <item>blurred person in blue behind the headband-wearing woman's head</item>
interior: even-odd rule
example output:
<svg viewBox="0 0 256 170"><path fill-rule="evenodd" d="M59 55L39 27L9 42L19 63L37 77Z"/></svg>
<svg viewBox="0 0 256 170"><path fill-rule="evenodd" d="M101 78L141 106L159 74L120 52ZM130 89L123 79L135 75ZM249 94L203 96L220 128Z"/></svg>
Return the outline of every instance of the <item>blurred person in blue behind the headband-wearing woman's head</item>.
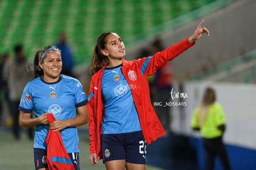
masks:
<svg viewBox="0 0 256 170"><path fill-rule="evenodd" d="M61 50L62 57L62 71L61 74L69 75L74 77L73 68L74 68L74 56L72 49L67 45L67 36L65 33L59 33L59 40L56 44L56 47Z"/></svg>

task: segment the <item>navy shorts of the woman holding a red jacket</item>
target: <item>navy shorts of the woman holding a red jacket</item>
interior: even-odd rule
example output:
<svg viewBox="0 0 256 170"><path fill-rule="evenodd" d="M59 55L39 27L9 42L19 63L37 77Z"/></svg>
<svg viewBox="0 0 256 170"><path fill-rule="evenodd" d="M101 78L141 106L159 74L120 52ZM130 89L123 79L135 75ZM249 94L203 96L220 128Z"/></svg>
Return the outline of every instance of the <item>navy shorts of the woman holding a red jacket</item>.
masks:
<svg viewBox="0 0 256 170"><path fill-rule="evenodd" d="M75 153L68 153L68 154L69 154L69 158L74 164L75 170L80 170L79 153L75 152ZM35 169L48 168L46 155L47 155L47 150L44 150L41 148L34 148Z"/></svg>

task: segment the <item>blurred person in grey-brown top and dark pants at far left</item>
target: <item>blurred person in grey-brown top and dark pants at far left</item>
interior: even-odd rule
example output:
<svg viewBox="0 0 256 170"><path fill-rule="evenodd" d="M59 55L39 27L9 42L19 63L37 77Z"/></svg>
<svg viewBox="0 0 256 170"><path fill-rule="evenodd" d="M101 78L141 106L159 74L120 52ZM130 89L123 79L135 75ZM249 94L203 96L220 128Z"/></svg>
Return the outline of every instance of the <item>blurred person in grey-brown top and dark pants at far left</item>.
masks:
<svg viewBox="0 0 256 170"><path fill-rule="evenodd" d="M14 58L7 65L7 88L9 99L11 101L11 116L12 116L12 132L15 140L20 139L19 130L19 104L25 85L33 79L32 72L28 72L27 67L31 66L30 62L25 57L22 45L14 46ZM28 138L33 139L33 128L28 129Z"/></svg>

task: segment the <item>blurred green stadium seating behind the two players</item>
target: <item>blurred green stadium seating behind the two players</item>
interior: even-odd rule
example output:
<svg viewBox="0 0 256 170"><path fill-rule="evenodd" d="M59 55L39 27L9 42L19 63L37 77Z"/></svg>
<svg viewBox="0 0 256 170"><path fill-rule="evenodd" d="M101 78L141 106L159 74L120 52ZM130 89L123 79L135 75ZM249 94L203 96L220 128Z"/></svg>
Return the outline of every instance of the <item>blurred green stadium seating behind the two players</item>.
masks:
<svg viewBox="0 0 256 170"><path fill-rule="evenodd" d="M38 49L54 45L59 32L65 32L80 64L90 60L96 38L105 31L124 40L143 38L152 28L214 1L1 0L0 53L23 43L33 59Z"/></svg>

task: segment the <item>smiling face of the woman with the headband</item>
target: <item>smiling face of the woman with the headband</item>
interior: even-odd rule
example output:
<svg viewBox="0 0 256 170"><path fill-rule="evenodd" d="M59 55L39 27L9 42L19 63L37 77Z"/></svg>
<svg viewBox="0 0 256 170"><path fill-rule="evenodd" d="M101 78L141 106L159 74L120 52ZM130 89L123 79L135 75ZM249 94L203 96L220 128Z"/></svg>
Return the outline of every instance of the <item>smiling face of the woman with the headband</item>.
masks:
<svg viewBox="0 0 256 170"><path fill-rule="evenodd" d="M39 66L43 69L43 79L46 82L56 82L62 70L61 54L56 51L48 53L43 61L39 62Z"/></svg>

